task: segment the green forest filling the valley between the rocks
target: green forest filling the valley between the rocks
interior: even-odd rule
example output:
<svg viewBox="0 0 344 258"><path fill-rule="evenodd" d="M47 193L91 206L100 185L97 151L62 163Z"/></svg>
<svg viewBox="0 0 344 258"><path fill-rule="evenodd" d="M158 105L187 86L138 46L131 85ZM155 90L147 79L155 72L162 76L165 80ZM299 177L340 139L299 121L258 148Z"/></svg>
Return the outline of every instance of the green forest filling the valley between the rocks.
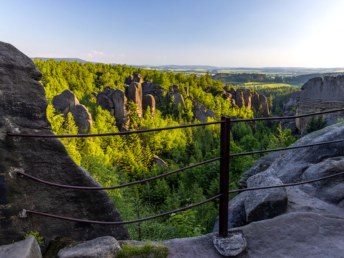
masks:
<svg viewBox="0 0 344 258"><path fill-rule="evenodd" d="M123 88L128 75L140 73L149 82L168 89L173 84L187 86L190 96L206 108L214 110L216 119L221 116L238 118L259 117L245 106L239 109L224 100L218 91L224 84L213 80L208 74L202 76L183 73L159 72L134 68L127 65L92 64L66 61L34 60L37 69L42 72L41 80L48 101L47 118L55 134L77 134L73 116L66 118L58 114L52 106L52 98L70 89L85 105L93 119L93 127L85 133L116 132L115 118L107 110L97 106L92 92L99 93L105 86ZM97 72L103 72L97 76ZM108 72L108 73L105 73ZM100 85L100 89L96 87ZM291 94L289 88L262 92L271 96L269 105L275 98L279 105L282 99ZM269 94L270 93L270 94ZM221 101L215 105L215 100ZM150 129L198 123L193 119L192 105L187 99L184 105L174 109L171 103L164 101L157 107L154 117L149 110L140 118L136 104L129 103L130 130ZM280 110L277 110L280 112ZM128 136L107 136L88 138L61 138L69 155L103 186L113 186L150 178L185 166L219 157L219 125L200 126L132 134ZM230 138L230 153L240 153L265 149L287 147L296 141L290 130L282 130L279 123L269 128L265 121L256 124L233 123ZM167 165L161 168L152 162L152 156L163 159ZM230 187L237 189L241 175L255 161L265 154L236 157L230 160ZM136 184L108 194L123 217L123 221L144 218L187 205L204 201L218 194L219 161L207 163L165 178ZM230 196L233 198L235 195ZM212 232L218 216L218 200L188 209L178 214L128 224L127 228L133 240L164 240L191 237Z"/></svg>

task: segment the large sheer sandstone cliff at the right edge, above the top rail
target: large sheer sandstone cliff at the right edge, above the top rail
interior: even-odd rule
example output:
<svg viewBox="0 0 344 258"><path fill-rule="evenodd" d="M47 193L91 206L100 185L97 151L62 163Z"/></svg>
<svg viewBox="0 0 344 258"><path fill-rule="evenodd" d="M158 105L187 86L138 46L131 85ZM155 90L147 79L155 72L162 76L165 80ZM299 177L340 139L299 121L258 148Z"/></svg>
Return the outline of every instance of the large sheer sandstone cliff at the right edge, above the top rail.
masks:
<svg viewBox="0 0 344 258"><path fill-rule="evenodd" d="M297 101L297 115L321 112L343 107L344 75L315 77L301 87ZM323 115L325 118L327 114ZM297 128L304 133L310 117L297 118Z"/></svg>

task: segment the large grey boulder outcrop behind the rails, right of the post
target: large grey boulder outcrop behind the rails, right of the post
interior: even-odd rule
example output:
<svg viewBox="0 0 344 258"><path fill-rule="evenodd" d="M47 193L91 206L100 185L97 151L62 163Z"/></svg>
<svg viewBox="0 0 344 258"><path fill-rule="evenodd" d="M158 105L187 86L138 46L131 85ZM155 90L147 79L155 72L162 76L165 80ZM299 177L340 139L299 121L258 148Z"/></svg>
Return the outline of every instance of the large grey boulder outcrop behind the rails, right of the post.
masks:
<svg viewBox="0 0 344 258"><path fill-rule="evenodd" d="M312 132L292 146L334 141L342 139L343 135L344 122L341 122ZM344 143L334 143L307 147L301 151L291 149L269 154L244 173L240 187L288 184L342 172L343 151ZM273 194L272 189L240 193L229 202L228 228L246 225L251 221L265 221L267 218L291 212L326 212L331 216L341 216L344 214L343 180L344 176L337 176L310 184L286 187L285 191ZM275 190L277 189L281 188ZM272 194L270 197L268 192ZM243 214L246 215L245 218ZM214 231L217 230L218 224L215 223Z"/></svg>

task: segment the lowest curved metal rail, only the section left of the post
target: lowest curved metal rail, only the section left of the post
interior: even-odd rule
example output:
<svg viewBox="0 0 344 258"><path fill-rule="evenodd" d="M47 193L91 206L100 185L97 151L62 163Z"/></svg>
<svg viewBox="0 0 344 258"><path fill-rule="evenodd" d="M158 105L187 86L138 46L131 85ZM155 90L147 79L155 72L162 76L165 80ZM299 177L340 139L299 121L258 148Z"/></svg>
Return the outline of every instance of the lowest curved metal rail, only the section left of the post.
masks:
<svg viewBox="0 0 344 258"><path fill-rule="evenodd" d="M212 197L212 198L210 198L208 200L205 200L203 202L196 203L196 204L193 204L193 205L190 205L190 206L187 206L187 207L184 207L184 208L180 208L180 209L175 209L174 211L171 211L171 212L165 212L165 213L162 213L162 214L159 214L159 215L154 215L154 216L151 216L151 217L148 217L148 218L136 219L134 221L118 221L118 222L87 221L87 220L84 220L84 219L67 218L67 217L56 216L56 215L52 215L52 214L47 214L47 213L42 213L42 212L35 212L35 211L30 211L30 210L26 210L26 213L42 215L42 216L47 216L47 217L51 217L51 218L59 218L59 219L64 219L66 221L76 221L76 222L84 222L84 223L92 223L92 224L120 225L120 224L130 224L130 223L136 223L136 222L141 222L141 221L148 221L149 219L162 217L162 216L165 216L165 215L168 215L168 214L172 214L172 213L175 213L175 212L185 211L186 209L190 209L190 208L202 205L204 203L213 201L213 200L215 200L216 198L218 198L218 197L220 197L222 195L223 194L219 194L219 195L216 195L216 196L214 196L214 197Z"/></svg>

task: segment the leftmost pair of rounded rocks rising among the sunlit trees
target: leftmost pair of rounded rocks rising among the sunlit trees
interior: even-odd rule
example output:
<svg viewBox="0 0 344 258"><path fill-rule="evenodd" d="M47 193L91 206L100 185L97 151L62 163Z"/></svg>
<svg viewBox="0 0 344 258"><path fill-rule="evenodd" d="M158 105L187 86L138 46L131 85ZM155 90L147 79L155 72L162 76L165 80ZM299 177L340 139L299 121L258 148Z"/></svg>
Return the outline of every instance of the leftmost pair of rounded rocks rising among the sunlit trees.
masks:
<svg viewBox="0 0 344 258"><path fill-rule="evenodd" d="M79 100L69 89L65 89L60 95L54 96L52 104L55 110L60 114L62 113L64 117L67 116L68 112L72 113L79 134L93 126L88 109L84 105L80 105Z"/></svg>

